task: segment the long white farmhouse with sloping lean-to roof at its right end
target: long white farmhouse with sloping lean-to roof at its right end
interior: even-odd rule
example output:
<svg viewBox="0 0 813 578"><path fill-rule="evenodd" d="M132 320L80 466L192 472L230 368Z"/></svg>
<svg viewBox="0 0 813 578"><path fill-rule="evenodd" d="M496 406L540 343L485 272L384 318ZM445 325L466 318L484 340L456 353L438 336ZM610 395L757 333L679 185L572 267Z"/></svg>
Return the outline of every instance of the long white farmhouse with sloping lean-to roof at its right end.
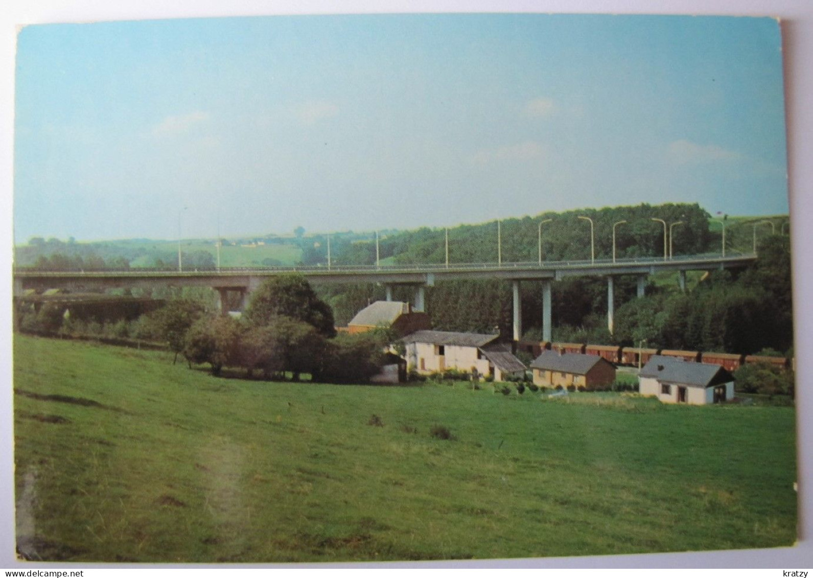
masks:
<svg viewBox="0 0 813 578"><path fill-rule="evenodd" d="M419 373L457 369L492 376L495 381L522 375L525 365L498 335L448 331L418 331L403 338L408 367Z"/></svg>

